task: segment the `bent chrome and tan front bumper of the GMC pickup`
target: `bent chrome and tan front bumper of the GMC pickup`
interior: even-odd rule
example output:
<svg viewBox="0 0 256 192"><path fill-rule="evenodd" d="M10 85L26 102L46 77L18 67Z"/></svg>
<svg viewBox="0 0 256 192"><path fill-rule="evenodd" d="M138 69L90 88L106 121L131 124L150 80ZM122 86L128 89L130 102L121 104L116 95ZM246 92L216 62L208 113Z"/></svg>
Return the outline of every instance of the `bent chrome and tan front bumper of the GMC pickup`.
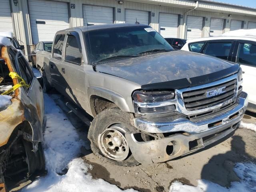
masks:
<svg viewBox="0 0 256 192"><path fill-rule="evenodd" d="M139 130L150 133L174 132L174 134L158 140L138 142L134 133L126 133L126 140L138 162L145 164L165 162L204 148L233 132L242 120L247 105L248 95L242 92L238 97L238 105L232 110L207 120L192 122L180 118L171 122L162 120L147 122L137 118L135 127ZM175 134L178 131L187 134Z"/></svg>

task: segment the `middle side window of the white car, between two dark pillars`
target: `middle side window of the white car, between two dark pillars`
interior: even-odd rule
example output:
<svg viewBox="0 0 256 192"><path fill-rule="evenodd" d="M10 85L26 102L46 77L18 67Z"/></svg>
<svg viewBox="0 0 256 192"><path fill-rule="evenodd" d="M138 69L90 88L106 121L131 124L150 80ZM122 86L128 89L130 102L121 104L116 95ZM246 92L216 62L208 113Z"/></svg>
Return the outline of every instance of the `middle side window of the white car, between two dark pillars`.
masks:
<svg viewBox="0 0 256 192"><path fill-rule="evenodd" d="M231 46L232 42L210 42L206 46L204 54L228 60Z"/></svg>

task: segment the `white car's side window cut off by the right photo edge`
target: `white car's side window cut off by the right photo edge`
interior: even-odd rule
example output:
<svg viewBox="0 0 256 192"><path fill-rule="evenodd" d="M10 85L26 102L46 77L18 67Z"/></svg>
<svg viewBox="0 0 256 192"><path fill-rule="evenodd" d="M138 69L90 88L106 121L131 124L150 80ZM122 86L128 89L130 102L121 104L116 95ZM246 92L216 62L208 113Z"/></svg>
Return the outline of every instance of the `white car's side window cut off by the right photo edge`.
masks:
<svg viewBox="0 0 256 192"><path fill-rule="evenodd" d="M238 48L237 62L256 66L256 45L240 43Z"/></svg>

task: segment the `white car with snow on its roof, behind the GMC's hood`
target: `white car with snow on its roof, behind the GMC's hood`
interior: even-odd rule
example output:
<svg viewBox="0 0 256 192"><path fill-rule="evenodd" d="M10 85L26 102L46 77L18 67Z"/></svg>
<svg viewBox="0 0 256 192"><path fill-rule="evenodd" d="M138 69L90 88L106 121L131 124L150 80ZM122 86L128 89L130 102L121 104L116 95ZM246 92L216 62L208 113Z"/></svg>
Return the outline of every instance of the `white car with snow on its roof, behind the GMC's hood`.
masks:
<svg viewBox="0 0 256 192"><path fill-rule="evenodd" d="M237 30L222 36L187 40L181 50L198 52L240 64L247 110L256 112L256 30Z"/></svg>

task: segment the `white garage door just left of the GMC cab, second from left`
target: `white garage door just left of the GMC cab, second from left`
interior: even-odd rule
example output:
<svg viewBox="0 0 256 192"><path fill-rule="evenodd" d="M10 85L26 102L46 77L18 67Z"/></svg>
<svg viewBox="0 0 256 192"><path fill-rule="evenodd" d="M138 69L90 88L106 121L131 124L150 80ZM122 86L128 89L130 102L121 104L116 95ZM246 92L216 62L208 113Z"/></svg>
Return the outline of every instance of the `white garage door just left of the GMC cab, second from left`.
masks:
<svg viewBox="0 0 256 192"><path fill-rule="evenodd" d="M48 0L28 0L33 43L53 41L57 31L69 27L68 4Z"/></svg>

